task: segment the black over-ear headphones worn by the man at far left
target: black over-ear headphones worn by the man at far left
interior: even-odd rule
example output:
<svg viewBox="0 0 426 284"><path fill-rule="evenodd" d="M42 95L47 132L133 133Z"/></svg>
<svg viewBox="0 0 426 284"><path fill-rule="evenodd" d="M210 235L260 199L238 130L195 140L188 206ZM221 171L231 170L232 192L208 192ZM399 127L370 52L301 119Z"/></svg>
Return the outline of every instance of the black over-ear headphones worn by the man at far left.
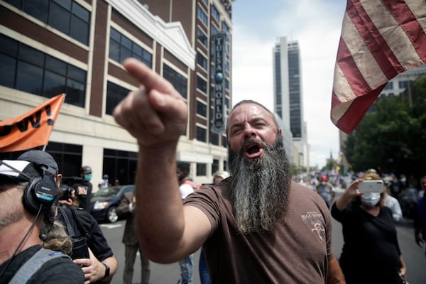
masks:
<svg viewBox="0 0 426 284"><path fill-rule="evenodd" d="M55 180L51 175L46 175L45 170L43 170L43 175L40 178L33 178L28 182L28 186L23 192L22 202L29 212L36 214L40 205L50 207L58 201L58 195Z"/></svg>

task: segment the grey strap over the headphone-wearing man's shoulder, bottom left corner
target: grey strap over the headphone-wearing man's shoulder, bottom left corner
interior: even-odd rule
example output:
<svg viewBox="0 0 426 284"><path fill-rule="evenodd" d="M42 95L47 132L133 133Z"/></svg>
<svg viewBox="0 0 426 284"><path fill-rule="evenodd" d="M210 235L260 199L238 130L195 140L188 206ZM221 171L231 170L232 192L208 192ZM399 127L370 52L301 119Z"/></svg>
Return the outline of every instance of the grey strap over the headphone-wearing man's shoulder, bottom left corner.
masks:
<svg viewBox="0 0 426 284"><path fill-rule="evenodd" d="M36 253L34 253L31 258L23 263L21 268L13 275L13 278L10 280L9 284L22 284L27 283L28 280L36 273L43 264L52 260L53 258L70 258L62 251L52 251L50 249L40 249Z"/></svg>

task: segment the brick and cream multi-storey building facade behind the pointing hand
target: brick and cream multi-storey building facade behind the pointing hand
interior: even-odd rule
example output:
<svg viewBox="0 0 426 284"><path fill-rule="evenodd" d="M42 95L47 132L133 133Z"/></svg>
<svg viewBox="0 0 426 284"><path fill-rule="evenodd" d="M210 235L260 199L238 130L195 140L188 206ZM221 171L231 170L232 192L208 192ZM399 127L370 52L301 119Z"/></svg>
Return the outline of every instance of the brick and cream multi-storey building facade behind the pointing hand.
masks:
<svg viewBox="0 0 426 284"><path fill-rule="evenodd" d="M54 155L65 176L78 175L81 165L90 165L95 188L104 174L111 181L133 183L138 146L116 124L112 112L138 87L121 62L138 58L187 100L190 116L177 160L191 164L196 182L209 182L216 170L227 170L226 138L223 133L212 135L209 124L215 102L210 36L212 26L218 32L226 30L230 65L231 4L201 0L180 4L176 13L192 11L195 28L188 28L188 18L165 21L142 2L0 1L0 120L65 93L45 151ZM221 12L219 20L212 6ZM230 68L223 74L229 106ZM16 158L20 153L0 157Z"/></svg>

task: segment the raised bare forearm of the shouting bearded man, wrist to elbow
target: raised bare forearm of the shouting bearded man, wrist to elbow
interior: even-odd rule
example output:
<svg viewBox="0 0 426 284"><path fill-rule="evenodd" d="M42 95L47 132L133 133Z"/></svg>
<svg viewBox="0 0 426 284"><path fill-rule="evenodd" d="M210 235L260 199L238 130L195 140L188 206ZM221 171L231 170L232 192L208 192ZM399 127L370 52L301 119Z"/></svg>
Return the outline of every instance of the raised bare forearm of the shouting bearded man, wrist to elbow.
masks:
<svg viewBox="0 0 426 284"><path fill-rule="evenodd" d="M141 248L153 261L167 263L184 230L175 149L139 151L136 223Z"/></svg>

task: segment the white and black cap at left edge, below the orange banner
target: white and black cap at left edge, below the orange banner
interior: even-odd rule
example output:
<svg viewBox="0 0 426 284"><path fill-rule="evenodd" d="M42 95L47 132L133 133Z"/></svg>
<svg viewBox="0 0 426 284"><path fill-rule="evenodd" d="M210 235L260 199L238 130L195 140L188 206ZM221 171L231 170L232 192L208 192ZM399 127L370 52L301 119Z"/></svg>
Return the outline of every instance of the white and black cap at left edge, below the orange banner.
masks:
<svg viewBox="0 0 426 284"><path fill-rule="evenodd" d="M27 182L41 176L36 165L26 160L1 160L0 175Z"/></svg>

